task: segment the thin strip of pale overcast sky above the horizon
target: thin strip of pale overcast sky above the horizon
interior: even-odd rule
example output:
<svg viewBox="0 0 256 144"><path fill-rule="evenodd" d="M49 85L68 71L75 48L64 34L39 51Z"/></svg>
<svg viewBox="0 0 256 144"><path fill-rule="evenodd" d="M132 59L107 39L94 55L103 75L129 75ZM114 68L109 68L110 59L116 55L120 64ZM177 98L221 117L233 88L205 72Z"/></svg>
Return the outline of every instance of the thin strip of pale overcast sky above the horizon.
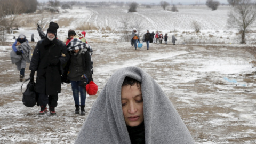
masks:
<svg viewBox="0 0 256 144"><path fill-rule="evenodd" d="M38 0L39 2L47 2L49 0ZM137 3L155 3L158 4L161 1L160 0L61 0L61 1L84 1L84 2L137 2ZM205 4L206 0L165 0L166 2L169 2L170 4L178 4L181 3L183 5L187 4L195 4L195 3L203 3ZM219 1L221 4L225 3L227 4L227 0L215 0Z"/></svg>

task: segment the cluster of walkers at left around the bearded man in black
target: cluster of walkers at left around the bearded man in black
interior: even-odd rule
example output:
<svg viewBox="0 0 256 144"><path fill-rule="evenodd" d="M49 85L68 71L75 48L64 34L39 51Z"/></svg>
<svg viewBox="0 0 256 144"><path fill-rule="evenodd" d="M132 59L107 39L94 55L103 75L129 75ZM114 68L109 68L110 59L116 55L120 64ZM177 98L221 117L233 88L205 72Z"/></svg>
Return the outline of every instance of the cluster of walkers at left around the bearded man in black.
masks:
<svg viewBox="0 0 256 144"><path fill-rule="evenodd" d="M55 115L61 83L71 83L75 101L75 114L85 115L86 84L92 81L92 49L83 36L77 36L69 30L68 42L65 44L57 38L59 25L50 22L47 33L38 41L33 56L26 36L21 34L12 45L11 60L20 71L20 81L25 77L26 62L30 63L30 81L34 81L38 93L39 115L48 112ZM84 31L85 32L85 31ZM42 37L41 37L42 38ZM31 60L30 60L31 59ZM80 100L79 100L80 93Z"/></svg>

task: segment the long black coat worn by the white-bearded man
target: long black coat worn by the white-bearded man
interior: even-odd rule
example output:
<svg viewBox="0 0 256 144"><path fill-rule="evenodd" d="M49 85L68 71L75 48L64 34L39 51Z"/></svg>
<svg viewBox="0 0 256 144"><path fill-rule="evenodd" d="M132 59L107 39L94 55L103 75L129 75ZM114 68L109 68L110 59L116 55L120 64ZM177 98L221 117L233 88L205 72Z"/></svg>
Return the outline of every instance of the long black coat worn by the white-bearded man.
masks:
<svg viewBox="0 0 256 144"><path fill-rule="evenodd" d="M46 37L37 43L29 66L31 71L37 71L36 92L46 95L60 93L61 65L67 62L67 54L65 43L56 38L49 41ZM58 63L52 64L53 60Z"/></svg>

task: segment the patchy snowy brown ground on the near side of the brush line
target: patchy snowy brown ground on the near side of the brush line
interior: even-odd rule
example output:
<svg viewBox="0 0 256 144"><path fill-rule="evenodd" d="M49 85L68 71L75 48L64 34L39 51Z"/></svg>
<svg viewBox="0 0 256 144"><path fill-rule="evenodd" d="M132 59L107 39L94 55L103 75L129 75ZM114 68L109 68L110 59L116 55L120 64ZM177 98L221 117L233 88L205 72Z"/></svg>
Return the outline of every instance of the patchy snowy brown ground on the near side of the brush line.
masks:
<svg viewBox="0 0 256 144"><path fill-rule="evenodd" d="M256 142L254 47L151 44L149 51L135 51L129 43L91 45L99 92L116 69L138 66L161 85L196 143ZM39 116L39 107L23 106L11 48L1 48L0 143L73 143L99 92L87 95L86 116L79 116L70 85L62 85L57 116Z"/></svg>

